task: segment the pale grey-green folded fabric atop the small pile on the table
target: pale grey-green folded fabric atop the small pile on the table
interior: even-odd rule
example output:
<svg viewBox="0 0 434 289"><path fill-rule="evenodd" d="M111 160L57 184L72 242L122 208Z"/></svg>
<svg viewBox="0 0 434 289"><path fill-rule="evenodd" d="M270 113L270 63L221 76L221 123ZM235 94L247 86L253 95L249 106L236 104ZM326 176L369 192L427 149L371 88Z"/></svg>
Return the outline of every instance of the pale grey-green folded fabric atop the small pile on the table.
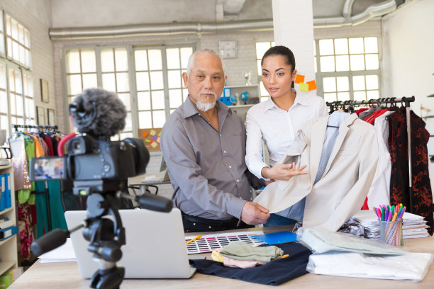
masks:
<svg viewBox="0 0 434 289"><path fill-rule="evenodd" d="M235 260L269 262L283 255L282 249L277 246L250 246L247 242L229 242L218 253L223 257Z"/></svg>

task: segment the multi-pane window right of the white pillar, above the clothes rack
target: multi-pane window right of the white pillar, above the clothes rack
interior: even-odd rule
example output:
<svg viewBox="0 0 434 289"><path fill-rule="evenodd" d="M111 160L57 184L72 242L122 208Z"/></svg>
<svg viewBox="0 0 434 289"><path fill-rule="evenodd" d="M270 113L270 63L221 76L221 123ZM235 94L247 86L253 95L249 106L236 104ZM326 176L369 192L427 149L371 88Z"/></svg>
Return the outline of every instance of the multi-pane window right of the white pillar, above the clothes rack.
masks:
<svg viewBox="0 0 434 289"><path fill-rule="evenodd" d="M379 98L377 37L316 40L315 64L325 101Z"/></svg>

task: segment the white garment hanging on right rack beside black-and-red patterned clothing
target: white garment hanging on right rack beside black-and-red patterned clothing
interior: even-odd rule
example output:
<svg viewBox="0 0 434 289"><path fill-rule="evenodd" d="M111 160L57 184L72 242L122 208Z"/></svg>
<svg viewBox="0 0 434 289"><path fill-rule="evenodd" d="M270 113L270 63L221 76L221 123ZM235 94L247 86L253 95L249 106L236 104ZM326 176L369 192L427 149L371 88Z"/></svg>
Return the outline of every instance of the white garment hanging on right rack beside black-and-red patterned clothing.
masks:
<svg viewBox="0 0 434 289"><path fill-rule="evenodd" d="M372 180L371 188L368 193L368 207L378 207L379 205L389 205L390 203L390 174L391 159L389 154L389 123L386 116L394 111L386 111L378 118L375 118L374 128L377 131L378 142L378 163Z"/></svg>

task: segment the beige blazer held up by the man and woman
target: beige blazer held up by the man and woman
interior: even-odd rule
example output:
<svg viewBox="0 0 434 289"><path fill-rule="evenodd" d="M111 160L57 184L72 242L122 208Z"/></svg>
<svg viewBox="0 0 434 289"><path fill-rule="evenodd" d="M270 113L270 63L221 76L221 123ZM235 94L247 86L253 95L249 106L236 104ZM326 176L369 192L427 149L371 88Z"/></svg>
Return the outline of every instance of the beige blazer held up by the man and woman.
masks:
<svg viewBox="0 0 434 289"><path fill-rule="evenodd" d="M254 202L280 212L306 197L303 225L336 231L362 208L378 160L377 135L369 123L350 115L339 135L323 177L313 186L329 116L308 121L279 164L306 164L308 175L275 181Z"/></svg>

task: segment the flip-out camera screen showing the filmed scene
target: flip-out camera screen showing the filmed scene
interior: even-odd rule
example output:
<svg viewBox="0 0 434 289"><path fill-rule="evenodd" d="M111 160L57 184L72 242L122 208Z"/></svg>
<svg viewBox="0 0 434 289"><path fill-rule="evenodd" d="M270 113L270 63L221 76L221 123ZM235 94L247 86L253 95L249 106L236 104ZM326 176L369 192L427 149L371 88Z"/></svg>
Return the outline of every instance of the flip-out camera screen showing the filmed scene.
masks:
<svg viewBox="0 0 434 289"><path fill-rule="evenodd" d="M62 180L67 178L65 157L30 159L30 181Z"/></svg>

